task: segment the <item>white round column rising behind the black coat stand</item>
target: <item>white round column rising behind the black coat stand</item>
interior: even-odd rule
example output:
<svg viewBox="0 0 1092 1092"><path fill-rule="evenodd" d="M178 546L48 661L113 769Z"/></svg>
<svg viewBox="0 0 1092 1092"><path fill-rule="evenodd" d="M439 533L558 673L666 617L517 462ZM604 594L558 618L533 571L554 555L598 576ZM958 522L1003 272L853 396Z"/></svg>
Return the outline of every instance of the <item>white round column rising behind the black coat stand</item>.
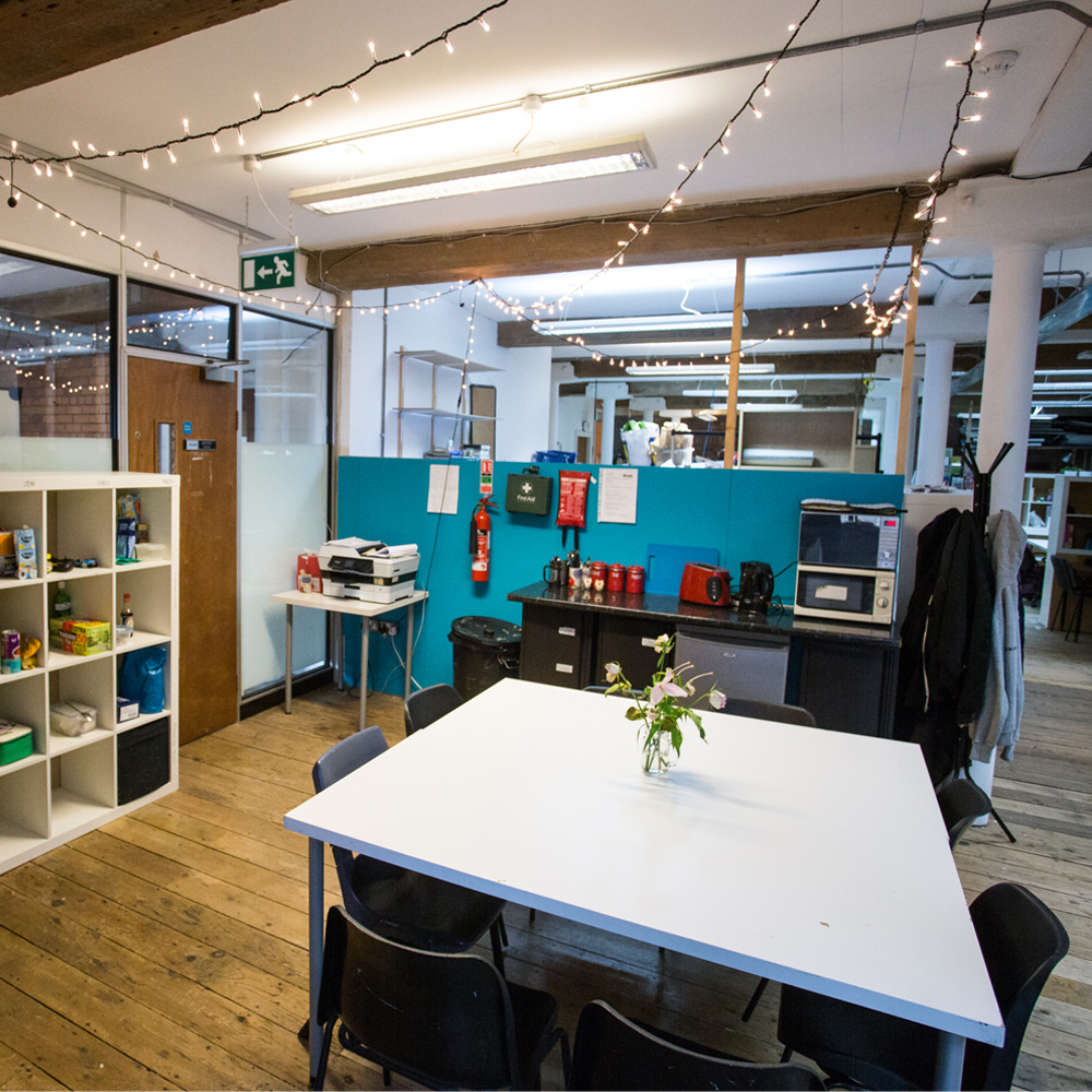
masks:
<svg viewBox="0 0 1092 1092"><path fill-rule="evenodd" d="M994 252L975 452L978 468L989 470L1007 441L1014 447L994 474L990 512L1020 512L1045 258L1046 245L1038 242L1016 244Z"/></svg>

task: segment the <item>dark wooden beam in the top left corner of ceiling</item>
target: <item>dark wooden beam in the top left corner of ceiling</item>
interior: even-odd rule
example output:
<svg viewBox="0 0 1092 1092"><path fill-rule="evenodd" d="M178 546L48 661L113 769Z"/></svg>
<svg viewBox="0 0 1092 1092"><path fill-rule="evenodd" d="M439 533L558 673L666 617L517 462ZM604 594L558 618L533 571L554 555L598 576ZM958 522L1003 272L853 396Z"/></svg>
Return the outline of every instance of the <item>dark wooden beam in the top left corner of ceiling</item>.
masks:
<svg viewBox="0 0 1092 1092"><path fill-rule="evenodd" d="M278 3L284 0L0 0L0 95Z"/></svg>

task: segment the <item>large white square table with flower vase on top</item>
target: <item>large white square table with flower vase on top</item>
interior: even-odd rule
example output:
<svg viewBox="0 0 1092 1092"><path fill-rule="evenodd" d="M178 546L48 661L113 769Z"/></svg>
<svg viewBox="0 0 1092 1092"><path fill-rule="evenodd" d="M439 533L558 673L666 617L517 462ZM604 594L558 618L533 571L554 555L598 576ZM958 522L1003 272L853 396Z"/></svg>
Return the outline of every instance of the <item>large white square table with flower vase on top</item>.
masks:
<svg viewBox="0 0 1092 1092"><path fill-rule="evenodd" d="M938 1028L959 1088L964 1038L1005 1029L918 748L710 713L653 779L627 705L505 679L285 816L312 1006L332 842Z"/></svg>

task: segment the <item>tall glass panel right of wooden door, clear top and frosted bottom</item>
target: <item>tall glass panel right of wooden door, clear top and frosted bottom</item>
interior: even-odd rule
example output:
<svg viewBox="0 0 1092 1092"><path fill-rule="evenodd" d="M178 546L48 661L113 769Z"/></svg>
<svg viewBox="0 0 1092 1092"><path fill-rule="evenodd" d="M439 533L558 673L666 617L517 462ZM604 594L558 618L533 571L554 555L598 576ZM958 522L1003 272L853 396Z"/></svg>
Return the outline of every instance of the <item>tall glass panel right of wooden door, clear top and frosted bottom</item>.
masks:
<svg viewBox="0 0 1092 1092"><path fill-rule="evenodd" d="M330 331L244 309L239 356L239 606L242 695L284 679L284 607L296 557L330 537ZM298 610L293 674L327 662L327 616Z"/></svg>

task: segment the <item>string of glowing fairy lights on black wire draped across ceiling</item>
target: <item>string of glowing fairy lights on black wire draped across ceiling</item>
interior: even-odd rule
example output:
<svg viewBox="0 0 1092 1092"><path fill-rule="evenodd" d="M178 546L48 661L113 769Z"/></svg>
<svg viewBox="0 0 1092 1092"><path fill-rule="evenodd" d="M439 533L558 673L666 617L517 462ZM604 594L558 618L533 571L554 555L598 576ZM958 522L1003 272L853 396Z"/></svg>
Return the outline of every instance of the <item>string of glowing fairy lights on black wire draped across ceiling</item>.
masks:
<svg viewBox="0 0 1092 1092"><path fill-rule="evenodd" d="M765 104L765 100L772 95L770 81L774 69L784 58L787 50L793 46L797 36L800 34L803 27L807 24L807 22L816 12L816 10L819 8L821 2L822 0L814 0L814 2L810 4L810 7L808 8L804 16L799 20L799 22L790 24L788 26L790 36L786 39L783 48L780 50L780 52L772 61L765 64L762 78L755 84L755 86L751 88L751 91L746 96L746 98L738 107L738 109L736 109L728 118L728 120L724 123L723 128L717 133L716 139L709 144L709 146L698 157L698 159L695 162L692 166L688 166L686 163L679 164L679 170L682 173L682 178L673 188L668 197L661 203L661 205L657 209L648 214L645 217L643 218L639 217L633 221L630 221L627 225L628 236L619 238L617 242L617 249L608 258L606 258L603 264L597 270L593 271L582 283L571 287L563 295L558 296L555 299L547 300L543 297L539 297L533 304L521 304L518 299L517 300L506 299L503 296L501 296L499 293L495 290L491 282L487 282L483 278L475 278L470 282L461 281L459 282L458 285L452 284L447 288L439 289L435 293L430 293L427 296L420 296L416 299L404 300L399 304L389 304L387 306L359 307L358 308L359 313L375 314L379 311L382 311L384 314L389 314L391 313L391 311L400 310L400 308L419 310L422 307L435 302L437 299L440 299L441 297L454 293L461 293L466 286L475 285L476 286L475 298L477 298L478 295L484 294L485 298L491 301L503 314L509 317L514 317L519 320L524 320L524 321L530 320L532 321L537 332L550 337L556 337L559 341L563 341L568 344L574 345L582 349L586 349L586 346L584 345L584 341L582 337L574 335L567 335L561 330L554 330L547 328L545 325L542 325L537 320L542 318L553 317L555 313L561 312L567 308L567 306L570 302L572 302L574 297L578 294L582 294L584 289L594 280L604 275L613 268L616 266L620 268L625 265L626 256L629 252L630 248L636 245L639 245L640 241L650 234L653 226L661 218L669 215L670 213L679 209L684 200L682 191L691 182L691 180L696 177L696 175L705 168L709 158L711 156L714 156L716 152L720 152L722 156L728 154L729 151L728 141L732 135L733 126L737 124L739 122L739 119L744 118L745 116L749 116L756 121L761 119L763 114L761 106L763 106ZM802 324L802 331L808 330L810 325L817 325L821 329L826 329L827 320L830 319L836 311L839 311L841 307L850 307L853 309L857 309L858 307L863 308L865 316L865 325L868 329L869 335L873 340L880 340L885 337L891 331L891 328L893 325L897 325L898 323L904 321L905 316L911 307L911 304L907 299L910 284L913 282L915 287L918 286L921 284L921 276L925 275L928 272L928 270L922 268L921 265L921 251L925 249L925 245L927 242L940 241L933 235L933 229L935 225L943 223L943 217L938 217L936 215L936 200L949 185L949 180L947 177L949 158L953 154L959 155L960 157L964 157L969 154L969 150L965 146L962 146L961 144L957 143L959 129L964 123L976 122L982 119L981 114L964 116L963 108L969 98L972 97L985 98L987 96L987 92L985 91L972 91L971 83L974 74L974 67L973 67L974 61L983 48L982 28L985 24L986 14L990 7L990 2L992 0L985 0L985 3L982 8L981 17L978 20L977 27L975 31L974 46L973 49L971 50L970 57L966 60L950 59L947 61L947 67L960 67L960 66L964 67L966 70L966 79L964 81L962 95L960 96L956 107L956 120L954 123L952 124L951 132L949 134L948 145L941 157L940 167L928 178L926 182L921 183L921 193L923 195L921 200L921 207L918 210L918 213L916 214L916 218L922 221L922 240L921 240L921 246L918 248L915 248L915 253L911 263L911 270L905 281L898 288L895 288L893 293L890 294L886 304L877 302L876 294L879 286L880 277L883 274L885 270L888 268L891 254L897 246L897 240L901 232L901 224L902 224L903 213L905 211L905 205L907 201L914 199L912 190L916 189L917 183L914 183L912 187L898 188L898 191L901 195L899 212L894 218L894 227L892 229L891 238L887 246L885 256L875 270L871 284L868 283L863 284L862 290L859 293L857 293L852 298L844 300L842 304L833 305L824 314L820 316L818 320L810 320L804 322ZM376 50L375 43L369 43L369 51L371 52L372 59L371 63L363 72L357 73L356 75L352 76L348 80L333 83L327 87L311 92L307 95L294 95L289 100L281 103L275 106L263 106L260 94L256 92L254 102L257 105L257 112L248 115L247 117L244 117L236 121L230 121L219 124L214 129L191 131L189 119L183 119L182 120L183 132L182 135L177 139L159 141L157 143L150 144L146 146L130 147L124 150L107 150L107 151L99 151L91 142L85 141L81 143L80 141L74 140L72 142L74 154L64 156L49 156L45 158L40 156L27 155L25 151L20 151L19 142L16 140L12 140L11 153L10 155L5 156L5 158L9 159L9 164L11 167L10 177L3 179L4 185L10 190L8 204L14 207L19 203L20 199L25 197L29 201L34 202L39 211L47 213L51 212L55 218L61 221L68 221L69 225L73 229L78 230L81 237L87 236L88 234L93 234L99 238L110 241L120 247L121 249L139 257L143 261L143 266L145 269L150 269L153 272L157 272L161 269L165 270L168 280L181 278L183 283L188 281L191 285L195 285L203 292L209 292L218 295L230 294L233 297L238 297L239 299L248 304L254 302L256 300L265 301L273 305L274 307L280 308L281 310L286 310L288 301L286 301L281 296L273 296L271 294L261 292L244 292L241 289L234 287L233 285L227 285L217 282L215 280L199 276L197 273L185 270L181 266L162 261L159 259L157 251L154 251L151 256L149 256L141 240L130 242L129 240L127 240L123 234L115 237L109 235L108 233L104 233L102 230L98 230L97 228L93 228L90 225L84 224L76 217L68 215L66 212L56 207L50 202L44 199L36 198L34 194L16 187L14 181L15 163L20 162L25 166L29 166L38 176L45 174L46 176L51 177L54 173L52 168L56 166L58 168L63 168L63 170L69 177L73 177L72 163L87 162L100 158L115 158L115 157L140 155L142 158L142 165L144 166L145 169L147 169L150 167L149 155L156 152L164 152L168 156L169 162L171 164L175 164L177 163L177 156L174 153L174 149L182 144L200 140L211 141L215 152L219 153L222 151L222 146L219 144L218 138L226 132L234 132L237 135L239 144L241 145L244 144L245 141L242 132L244 127L250 126L253 122L261 120L263 117L280 114L284 110L290 109L300 104L304 105L305 107L310 106L318 98L321 98L325 95L332 94L337 91L348 92L352 95L354 102L357 102L359 100L359 96L355 90L355 84L366 79L377 69L391 63L413 58L423 52L424 50L434 46L439 46L441 44L449 52L452 52L454 49L454 46L450 40L452 35L454 35L456 32L465 27L470 27L475 24L479 25L486 32L489 31L489 24L486 21L485 16L490 12L495 11L496 9L505 7L507 3L508 0L496 0L496 2L490 3L489 5L483 8L480 11L470 16L468 19L462 20L459 23L454 23L447 29L444 29L442 33L434 35L431 38L429 38L425 43L422 43L416 48L405 49L396 55L380 57ZM715 158L720 158L720 156ZM295 302L304 304L305 302L304 297L297 296ZM347 300L343 306L323 305L323 308L328 313L340 316L343 309L352 308L352 302ZM310 307L308 309L310 309ZM12 323L9 321L9 327L11 325ZM788 328L787 330L786 329L778 330L778 336L794 337L797 331L795 328ZM750 344L748 346L748 352L758 348L761 344L764 344L767 341L770 340L772 340L772 335L771 339L764 339L763 341ZM471 344L472 343L473 340L471 340ZM471 348L468 344L467 359L470 356L470 352ZM594 360L598 361L604 359L604 354L597 351L586 349L586 352ZM708 359L709 359L708 357L702 356L703 363L708 363ZM714 355L713 359L717 360L719 356ZM725 354L725 359L727 359L727 354ZM0 356L0 363L14 363L14 361L5 360L5 357ZM661 363L661 361L655 361L655 363ZM666 366L668 360L665 358L662 363L664 366ZM610 358L609 364L625 368L627 361L625 359L615 360L614 358Z"/></svg>

